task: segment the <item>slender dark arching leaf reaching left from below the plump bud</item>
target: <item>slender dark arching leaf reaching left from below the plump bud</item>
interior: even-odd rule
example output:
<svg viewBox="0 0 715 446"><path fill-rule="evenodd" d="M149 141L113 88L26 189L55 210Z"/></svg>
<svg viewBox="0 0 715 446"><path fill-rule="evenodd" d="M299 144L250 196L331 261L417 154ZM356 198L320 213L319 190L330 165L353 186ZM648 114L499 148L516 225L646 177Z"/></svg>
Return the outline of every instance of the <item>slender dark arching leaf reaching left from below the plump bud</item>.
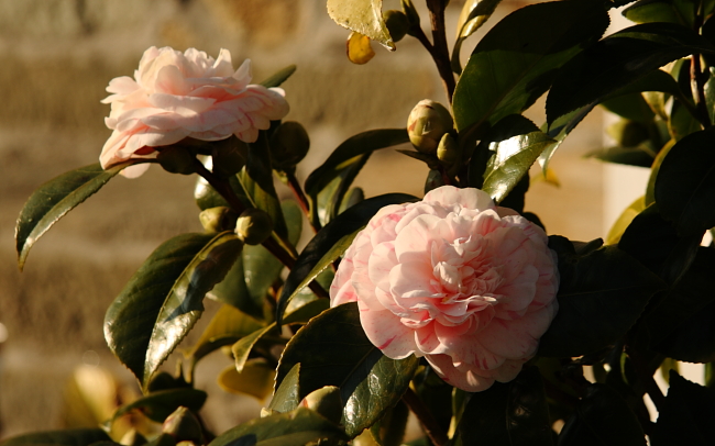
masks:
<svg viewBox="0 0 715 446"><path fill-rule="evenodd" d="M380 148L408 143L406 129L380 129L356 134L336 148L326 161L306 180L306 193L317 197L330 181L337 178L345 164L353 158Z"/></svg>

